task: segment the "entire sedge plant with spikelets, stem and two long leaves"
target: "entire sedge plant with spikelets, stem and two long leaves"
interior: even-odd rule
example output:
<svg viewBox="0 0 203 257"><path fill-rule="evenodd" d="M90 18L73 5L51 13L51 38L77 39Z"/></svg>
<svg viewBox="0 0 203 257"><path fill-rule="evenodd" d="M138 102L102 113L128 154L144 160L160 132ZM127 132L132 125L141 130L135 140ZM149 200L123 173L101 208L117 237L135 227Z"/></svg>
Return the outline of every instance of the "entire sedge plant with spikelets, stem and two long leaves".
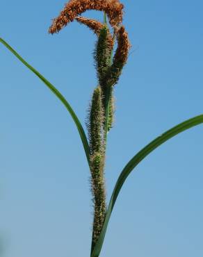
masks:
<svg viewBox="0 0 203 257"><path fill-rule="evenodd" d="M26 62L10 45L0 38L0 42L7 47L31 72L33 72L47 87L54 92L56 97L64 104L67 111L72 116L76 128L79 131L83 148L86 153L88 165L90 167L90 189L92 192L93 217L92 217L92 245L90 257L98 257L104 242L108 221L111 217L115 201L132 170L148 154L161 144L169 140L188 128L203 123L203 115L198 115L188 119L170 130L166 131L158 138L141 149L129 163L122 169L111 200L106 203L105 188L105 159L106 142L108 132L113 127L115 115L114 88L117 85L122 69L127 63L130 43L128 33L125 30L123 19L124 5L119 0L70 0L58 17L53 19L49 28L49 33L58 33L62 28L73 21L88 26L97 36L95 43L94 59L97 72L97 85L92 92L90 106L87 117L87 134L81 125L76 113L70 103L40 72ZM86 10L98 10L104 13L104 21L97 21L81 17Z"/></svg>

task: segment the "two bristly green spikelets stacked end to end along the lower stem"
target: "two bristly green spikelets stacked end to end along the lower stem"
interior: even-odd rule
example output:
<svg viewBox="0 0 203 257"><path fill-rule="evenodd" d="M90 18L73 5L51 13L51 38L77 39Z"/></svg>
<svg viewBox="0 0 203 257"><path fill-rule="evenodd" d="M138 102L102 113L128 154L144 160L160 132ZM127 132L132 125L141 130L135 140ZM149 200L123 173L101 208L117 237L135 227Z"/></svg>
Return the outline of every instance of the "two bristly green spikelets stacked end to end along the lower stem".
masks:
<svg viewBox="0 0 203 257"><path fill-rule="evenodd" d="M97 242L106 214L106 190L104 183L104 110L101 87L95 88L91 101L88 135L90 140L91 191L94 204L92 244Z"/></svg>

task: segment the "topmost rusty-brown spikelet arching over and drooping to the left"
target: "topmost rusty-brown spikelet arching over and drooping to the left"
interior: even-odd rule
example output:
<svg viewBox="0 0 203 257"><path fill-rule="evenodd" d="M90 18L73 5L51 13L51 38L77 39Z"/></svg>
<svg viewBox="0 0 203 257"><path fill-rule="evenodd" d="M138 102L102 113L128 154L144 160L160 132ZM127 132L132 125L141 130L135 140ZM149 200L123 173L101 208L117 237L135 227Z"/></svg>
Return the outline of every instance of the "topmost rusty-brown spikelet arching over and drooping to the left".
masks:
<svg viewBox="0 0 203 257"><path fill-rule="evenodd" d="M124 6L119 0L71 0L61 11L60 15L53 20L49 33L60 31L64 26L86 10L104 11L111 26L115 27L122 22L122 9Z"/></svg>

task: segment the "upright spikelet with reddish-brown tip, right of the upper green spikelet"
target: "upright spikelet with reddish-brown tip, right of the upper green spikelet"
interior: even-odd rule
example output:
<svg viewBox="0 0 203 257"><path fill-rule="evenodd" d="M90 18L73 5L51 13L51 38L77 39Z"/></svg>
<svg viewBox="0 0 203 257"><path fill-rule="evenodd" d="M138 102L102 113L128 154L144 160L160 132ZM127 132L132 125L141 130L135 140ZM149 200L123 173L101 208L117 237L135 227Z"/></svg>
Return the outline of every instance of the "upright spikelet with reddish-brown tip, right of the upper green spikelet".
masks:
<svg viewBox="0 0 203 257"><path fill-rule="evenodd" d="M127 62L129 49L131 44L129 42L128 34L125 31L124 26L121 26L117 31L117 49L115 51L115 56L113 57L113 65L106 74L106 80L108 85L115 85L119 80L122 68Z"/></svg>

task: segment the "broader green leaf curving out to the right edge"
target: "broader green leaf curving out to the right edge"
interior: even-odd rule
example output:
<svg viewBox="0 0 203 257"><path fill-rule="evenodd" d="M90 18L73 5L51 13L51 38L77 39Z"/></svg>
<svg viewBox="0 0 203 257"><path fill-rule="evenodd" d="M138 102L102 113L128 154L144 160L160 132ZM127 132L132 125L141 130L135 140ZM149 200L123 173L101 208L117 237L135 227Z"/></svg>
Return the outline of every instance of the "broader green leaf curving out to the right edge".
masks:
<svg viewBox="0 0 203 257"><path fill-rule="evenodd" d="M115 201L117 199L117 196L122 188L122 185L124 184L124 181L126 181L129 174L132 172L134 167L138 165L138 163L141 162L147 155L149 155L154 149L159 147L161 144L163 144L165 141L169 140L170 138L174 137L175 135L186 131L189 128L192 128L193 126L197 126L199 124L203 123L203 115L193 117L192 119L188 119L186 122L183 122L177 126L174 126L174 128L171 128L169 131L163 133L159 138L156 138L151 143L147 144L146 147L144 147L141 151L134 156L129 163L124 167L122 170L119 178L117 179L117 183L115 184L115 188L113 190L113 194L111 196L110 203L108 205L108 210L106 211L106 217L104 220L104 225L101 230L101 234L99 235L99 239L97 241L97 244L95 244L95 248L93 249L91 253L91 257L98 257L101 251L102 244L104 242L104 237L106 234L106 229L108 226L108 221L111 217L111 213L113 210L113 206L115 205Z"/></svg>

